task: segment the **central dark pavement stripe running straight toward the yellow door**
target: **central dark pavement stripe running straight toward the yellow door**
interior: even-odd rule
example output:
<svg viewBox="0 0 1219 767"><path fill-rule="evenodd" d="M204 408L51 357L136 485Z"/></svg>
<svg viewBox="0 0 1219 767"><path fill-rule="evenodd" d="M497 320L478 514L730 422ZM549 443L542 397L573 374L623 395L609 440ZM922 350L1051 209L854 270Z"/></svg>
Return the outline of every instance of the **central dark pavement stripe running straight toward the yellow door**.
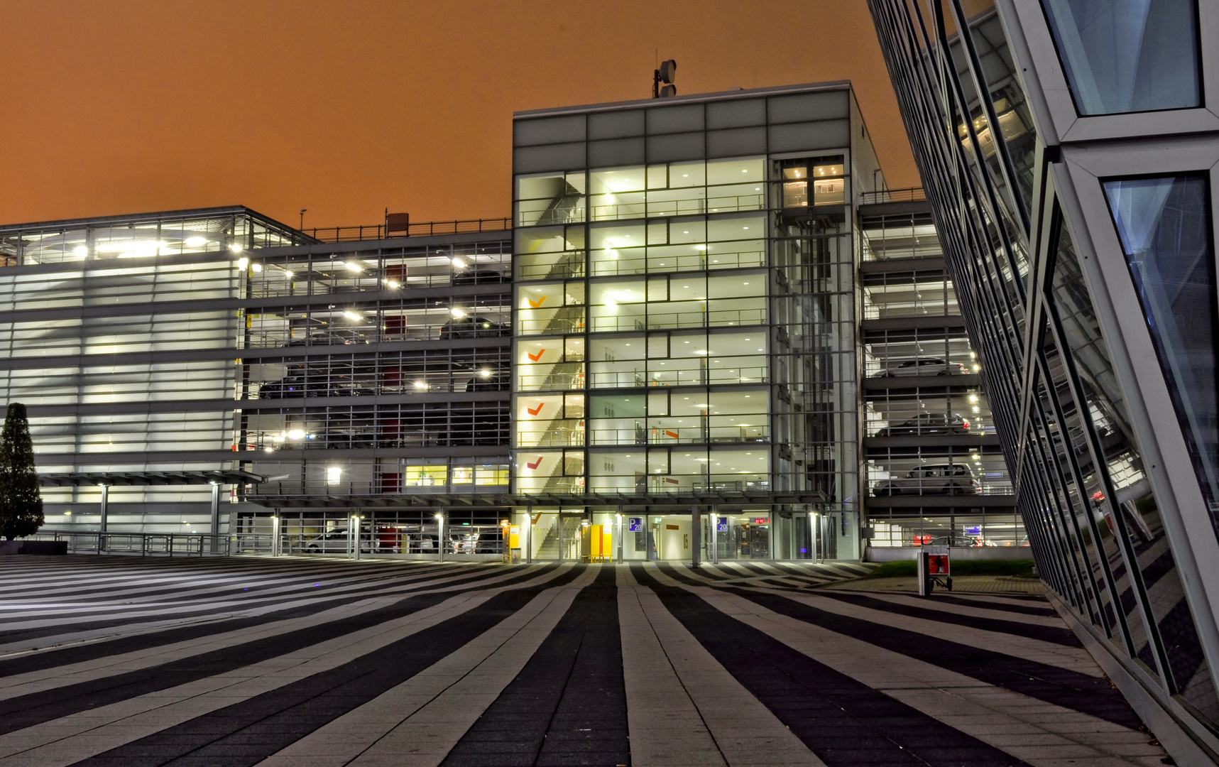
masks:
<svg viewBox="0 0 1219 767"><path fill-rule="evenodd" d="M629 763L618 598L606 567L441 765Z"/></svg>

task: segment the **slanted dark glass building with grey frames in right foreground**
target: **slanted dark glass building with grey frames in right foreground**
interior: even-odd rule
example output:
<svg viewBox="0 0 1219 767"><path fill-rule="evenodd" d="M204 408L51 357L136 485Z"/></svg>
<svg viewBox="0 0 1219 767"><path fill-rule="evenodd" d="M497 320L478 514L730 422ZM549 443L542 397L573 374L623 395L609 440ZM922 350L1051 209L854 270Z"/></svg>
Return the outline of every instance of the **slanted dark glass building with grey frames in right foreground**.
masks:
<svg viewBox="0 0 1219 767"><path fill-rule="evenodd" d="M1042 578L1219 757L1209 0L869 0Z"/></svg>

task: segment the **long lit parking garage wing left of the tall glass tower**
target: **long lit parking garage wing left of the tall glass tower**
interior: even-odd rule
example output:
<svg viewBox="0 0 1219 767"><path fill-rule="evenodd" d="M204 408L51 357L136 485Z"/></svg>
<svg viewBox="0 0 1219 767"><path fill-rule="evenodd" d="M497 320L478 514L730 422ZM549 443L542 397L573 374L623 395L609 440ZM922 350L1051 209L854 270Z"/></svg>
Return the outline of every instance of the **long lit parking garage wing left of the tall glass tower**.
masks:
<svg viewBox="0 0 1219 767"><path fill-rule="evenodd" d="M401 527L430 522L421 496L506 491L499 228L332 244L243 207L0 228L0 385L54 480L46 527L208 532L206 480L162 484L183 472L265 478L224 488L217 532L271 506L285 550L352 511Z"/></svg>

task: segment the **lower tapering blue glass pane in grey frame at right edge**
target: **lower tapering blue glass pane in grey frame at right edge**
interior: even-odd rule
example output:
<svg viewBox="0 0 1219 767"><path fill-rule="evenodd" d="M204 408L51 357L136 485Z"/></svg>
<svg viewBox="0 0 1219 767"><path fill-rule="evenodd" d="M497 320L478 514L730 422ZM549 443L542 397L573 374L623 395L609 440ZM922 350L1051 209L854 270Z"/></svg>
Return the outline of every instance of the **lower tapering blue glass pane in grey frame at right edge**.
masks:
<svg viewBox="0 0 1219 767"><path fill-rule="evenodd" d="M1219 333L1207 180L1111 180L1104 193L1212 524L1219 529Z"/></svg>

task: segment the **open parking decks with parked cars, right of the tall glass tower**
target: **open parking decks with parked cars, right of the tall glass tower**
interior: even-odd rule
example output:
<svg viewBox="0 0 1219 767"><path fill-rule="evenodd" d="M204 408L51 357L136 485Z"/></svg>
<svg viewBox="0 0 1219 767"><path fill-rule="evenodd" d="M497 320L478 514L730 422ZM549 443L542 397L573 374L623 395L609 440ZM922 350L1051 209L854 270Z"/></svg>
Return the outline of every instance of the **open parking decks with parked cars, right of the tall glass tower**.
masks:
<svg viewBox="0 0 1219 767"><path fill-rule="evenodd" d="M863 195L863 454L873 558L922 544L1028 555L981 360L920 189ZM990 552L997 554L997 552Z"/></svg>

